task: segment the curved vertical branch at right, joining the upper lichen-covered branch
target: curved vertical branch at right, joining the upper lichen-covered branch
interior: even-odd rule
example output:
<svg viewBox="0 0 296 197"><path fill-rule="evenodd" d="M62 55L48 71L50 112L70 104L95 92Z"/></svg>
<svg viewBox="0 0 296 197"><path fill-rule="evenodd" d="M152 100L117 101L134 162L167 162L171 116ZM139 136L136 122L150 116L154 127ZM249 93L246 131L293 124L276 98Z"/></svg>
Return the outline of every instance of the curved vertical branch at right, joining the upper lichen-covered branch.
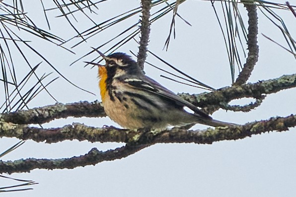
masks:
<svg viewBox="0 0 296 197"><path fill-rule="evenodd" d="M256 4L253 0L244 0L244 6L248 11L248 35L247 35L247 45L248 45L248 57L246 63L243 66L242 71L239 73L235 85L244 84L254 69L255 64L258 61L259 47L257 45L257 35L258 35L258 17Z"/></svg>

